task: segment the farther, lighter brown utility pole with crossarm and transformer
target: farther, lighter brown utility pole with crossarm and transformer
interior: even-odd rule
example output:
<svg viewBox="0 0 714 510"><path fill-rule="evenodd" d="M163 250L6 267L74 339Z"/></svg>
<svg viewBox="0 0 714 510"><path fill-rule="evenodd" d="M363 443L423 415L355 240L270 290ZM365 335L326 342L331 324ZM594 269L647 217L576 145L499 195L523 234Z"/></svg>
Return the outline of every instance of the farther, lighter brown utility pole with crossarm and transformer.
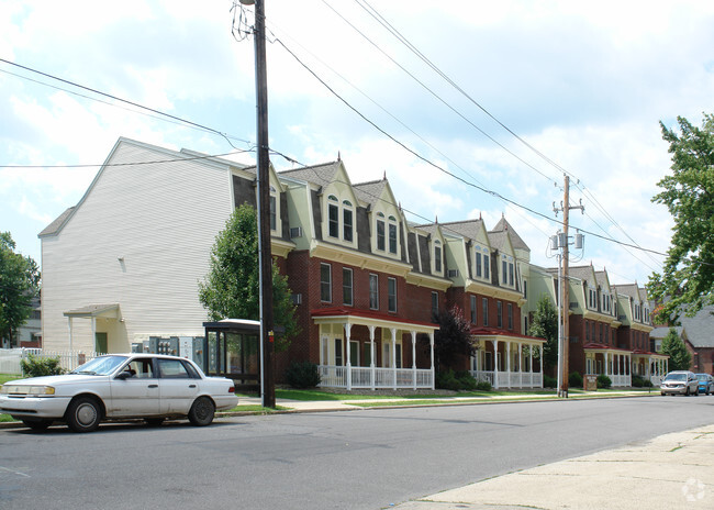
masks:
<svg viewBox="0 0 714 510"><path fill-rule="evenodd" d="M562 278L560 279L560 321L559 325L561 326L561 334L558 335L558 346L560 351L559 363L558 363L558 373L560 374L560 387L558 388L558 397L568 398L568 375L569 375L569 355L570 355L570 278L568 277L568 257L570 255L569 250L569 240L568 240L568 228L570 223L570 209L580 209L584 213L584 206L570 206L570 177L566 177L565 182L565 196L562 198L562 204L560 209L554 207L556 215L559 211L562 211L562 233L560 234L560 240L558 241L559 247L562 250L562 256L560 257L561 267L560 274ZM582 236L577 235L576 247L582 247Z"/></svg>

